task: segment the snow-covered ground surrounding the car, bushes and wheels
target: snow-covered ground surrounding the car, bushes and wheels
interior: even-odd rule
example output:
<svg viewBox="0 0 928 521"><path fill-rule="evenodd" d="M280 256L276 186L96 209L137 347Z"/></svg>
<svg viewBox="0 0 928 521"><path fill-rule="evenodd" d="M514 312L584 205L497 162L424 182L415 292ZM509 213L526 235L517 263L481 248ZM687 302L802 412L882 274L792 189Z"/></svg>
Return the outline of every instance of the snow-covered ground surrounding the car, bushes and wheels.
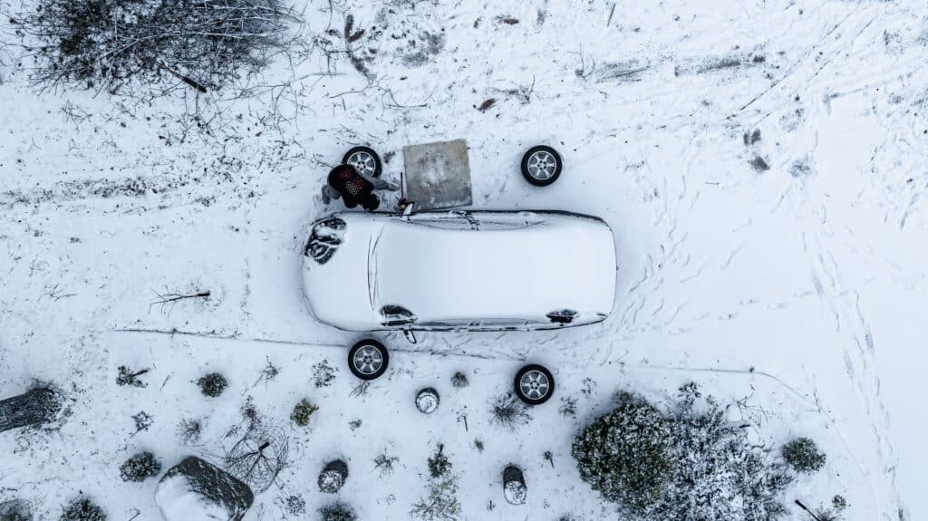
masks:
<svg viewBox="0 0 928 521"><path fill-rule="evenodd" d="M0 0L0 398L50 382L67 410L0 433L0 502L54 519L86 494L110 519L160 519L157 480L125 483L119 465L137 451L165 468L218 462L253 410L289 457L249 520L312 519L335 499L409 519L439 444L462 519L621 519L578 476L574 434L616 390L660 404L695 381L767 445L807 436L828 454L784 496L788 518L810 519L794 500L835 494L846 519L928 518L925 4L309 1L313 44L267 70L271 87L151 103L38 92L10 22L30 7ZM380 151L398 181L403 146L456 138L473 208L610 224L612 316L416 345L380 335L389 373L359 389L346 351L360 336L315 323L300 287L309 223L341 209L319 188L350 146ZM537 144L564 161L547 188L519 172ZM490 403L524 361L558 390L511 432ZM146 387L118 386L120 366L148 369ZM216 398L195 384L211 372L229 381ZM452 387L456 372L469 387ZM442 396L431 415L413 402L426 387ZM303 398L319 406L308 427L289 418ZM191 419L202 433L185 444ZM380 454L398 458L393 474ZM336 458L350 474L332 497L316 476ZM510 463L524 505L503 500Z"/></svg>

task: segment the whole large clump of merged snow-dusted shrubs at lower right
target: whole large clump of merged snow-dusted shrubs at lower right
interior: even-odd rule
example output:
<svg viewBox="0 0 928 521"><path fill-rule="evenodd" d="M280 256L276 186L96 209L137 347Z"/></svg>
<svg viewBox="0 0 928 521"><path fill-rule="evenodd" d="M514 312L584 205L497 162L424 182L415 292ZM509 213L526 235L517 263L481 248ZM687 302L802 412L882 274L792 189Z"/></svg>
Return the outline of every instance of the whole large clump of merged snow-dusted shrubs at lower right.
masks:
<svg viewBox="0 0 928 521"><path fill-rule="evenodd" d="M792 477L694 384L667 415L620 395L574 441L580 475L635 521L771 521Z"/></svg>

